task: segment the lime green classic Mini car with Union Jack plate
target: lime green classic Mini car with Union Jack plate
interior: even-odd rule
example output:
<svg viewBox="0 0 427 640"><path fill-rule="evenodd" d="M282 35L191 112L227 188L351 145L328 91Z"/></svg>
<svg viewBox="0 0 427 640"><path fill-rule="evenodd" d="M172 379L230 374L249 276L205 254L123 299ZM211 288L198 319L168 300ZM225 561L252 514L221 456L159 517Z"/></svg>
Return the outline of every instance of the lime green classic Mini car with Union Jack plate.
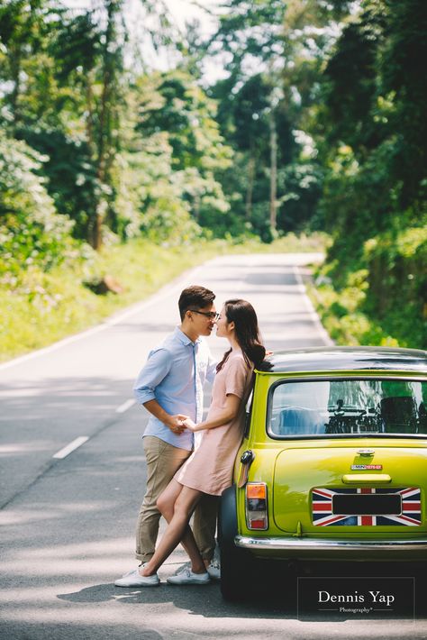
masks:
<svg viewBox="0 0 427 640"><path fill-rule="evenodd" d="M426 510L427 352L277 352L221 499L223 597L268 559L426 560Z"/></svg>

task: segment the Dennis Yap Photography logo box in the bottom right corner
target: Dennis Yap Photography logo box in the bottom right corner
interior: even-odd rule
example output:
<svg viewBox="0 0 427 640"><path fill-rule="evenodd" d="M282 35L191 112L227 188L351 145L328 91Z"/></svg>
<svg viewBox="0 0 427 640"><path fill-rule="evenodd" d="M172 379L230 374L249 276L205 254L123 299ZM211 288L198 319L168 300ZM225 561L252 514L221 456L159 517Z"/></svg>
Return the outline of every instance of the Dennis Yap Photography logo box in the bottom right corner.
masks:
<svg viewBox="0 0 427 640"><path fill-rule="evenodd" d="M300 617L414 617L413 578L298 578Z"/></svg>

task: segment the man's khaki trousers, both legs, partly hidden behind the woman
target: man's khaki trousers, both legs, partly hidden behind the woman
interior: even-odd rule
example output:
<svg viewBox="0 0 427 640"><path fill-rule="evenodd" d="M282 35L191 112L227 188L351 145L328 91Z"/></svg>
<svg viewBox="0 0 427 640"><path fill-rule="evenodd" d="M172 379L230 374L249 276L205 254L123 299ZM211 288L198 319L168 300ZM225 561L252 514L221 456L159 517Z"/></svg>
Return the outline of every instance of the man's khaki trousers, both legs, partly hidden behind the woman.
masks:
<svg viewBox="0 0 427 640"><path fill-rule="evenodd" d="M159 535L157 498L191 452L165 443L153 435L146 435L143 445L147 461L147 489L138 517L135 555L141 562L148 562L154 554ZM195 507L193 533L200 553L206 560L212 559L215 548L217 508L217 496L206 494Z"/></svg>

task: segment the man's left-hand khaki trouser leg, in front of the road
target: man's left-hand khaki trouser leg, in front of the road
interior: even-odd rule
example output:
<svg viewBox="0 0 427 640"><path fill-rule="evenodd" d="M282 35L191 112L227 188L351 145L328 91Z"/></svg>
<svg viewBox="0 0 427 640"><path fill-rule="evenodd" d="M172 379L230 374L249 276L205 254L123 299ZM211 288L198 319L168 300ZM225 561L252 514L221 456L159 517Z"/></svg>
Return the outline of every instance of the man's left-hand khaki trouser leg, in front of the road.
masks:
<svg viewBox="0 0 427 640"><path fill-rule="evenodd" d="M141 505L136 527L136 557L148 562L153 556L159 534L159 509L156 500L190 451L179 449L152 435L143 438L147 461L147 489Z"/></svg>

